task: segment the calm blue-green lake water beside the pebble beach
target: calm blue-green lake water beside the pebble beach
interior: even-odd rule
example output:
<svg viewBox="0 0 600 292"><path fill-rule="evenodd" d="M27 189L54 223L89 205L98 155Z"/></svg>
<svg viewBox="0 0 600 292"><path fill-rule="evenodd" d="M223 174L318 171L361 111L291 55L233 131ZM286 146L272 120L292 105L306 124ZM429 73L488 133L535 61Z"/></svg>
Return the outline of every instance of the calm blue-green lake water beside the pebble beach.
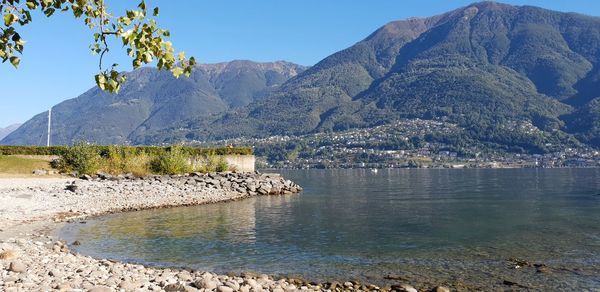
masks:
<svg viewBox="0 0 600 292"><path fill-rule="evenodd" d="M600 170L285 171L300 195L110 215L63 237L95 257L380 285L600 289ZM515 269L510 258L543 264Z"/></svg>

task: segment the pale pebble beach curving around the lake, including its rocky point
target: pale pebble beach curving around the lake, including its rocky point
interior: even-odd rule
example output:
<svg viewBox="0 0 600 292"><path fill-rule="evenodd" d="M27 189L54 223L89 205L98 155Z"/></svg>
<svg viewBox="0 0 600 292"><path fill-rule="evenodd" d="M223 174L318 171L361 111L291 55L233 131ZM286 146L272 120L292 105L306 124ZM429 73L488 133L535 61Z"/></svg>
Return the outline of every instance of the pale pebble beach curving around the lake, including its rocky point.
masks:
<svg viewBox="0 0 600 292"><path fill-rule="evenodd" d="M279 174L199 174L145 178L0 178L0 290L4 291L411 291L356 281L314 283L242 273L218 275L94 259L57 235L69 220L106 214L227 203L302 191ZM3 207L1 207L3 206ZM427 288L429 291L431 287ZM449 291L436 287L433 291ZM425 291L425 290L422 290Z"/></svg>

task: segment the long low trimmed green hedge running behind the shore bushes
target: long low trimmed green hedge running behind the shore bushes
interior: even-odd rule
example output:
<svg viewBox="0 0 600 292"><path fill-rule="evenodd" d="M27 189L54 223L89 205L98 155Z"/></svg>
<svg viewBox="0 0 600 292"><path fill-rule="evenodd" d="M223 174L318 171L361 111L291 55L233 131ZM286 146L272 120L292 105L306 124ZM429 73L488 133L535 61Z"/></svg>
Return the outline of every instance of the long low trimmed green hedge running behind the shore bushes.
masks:
<svg viewBox="0 0 600 292"><path fill-rule="evenodd" d="M98 152L103 155L108 153L110 146L94 145ZM171 147L155 147L155 146L118 146L128 153L146 153L150 155L159 155L170 152ZM0 155L63 155L69 149L68 146L0 146ZM191 156L210 156L210 155L251 155L252 148L235 147L235 148L193 148L181 147L185 154Z"/></svg>

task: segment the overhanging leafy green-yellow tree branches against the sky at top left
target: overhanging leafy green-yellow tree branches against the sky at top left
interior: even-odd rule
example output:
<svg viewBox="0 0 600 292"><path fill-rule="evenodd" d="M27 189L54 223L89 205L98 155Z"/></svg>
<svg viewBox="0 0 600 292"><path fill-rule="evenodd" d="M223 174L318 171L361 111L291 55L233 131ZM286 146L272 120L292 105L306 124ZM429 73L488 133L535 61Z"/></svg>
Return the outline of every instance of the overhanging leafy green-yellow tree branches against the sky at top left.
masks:
<svg viewBox="0 0 600 292"><path fill-rule="evenodd" d="M120 16L109 12L104 0L1 0L0 59L3 62L10 61L13 66L19 66L25 40L17 28L31 23L36 11L46 17L71 11L75 18L82 18L85 25L96 31L90 48L92 53L100 55L98 67L101 72L95 79L102 90L118 92L125 81L125 75L117 71L117 64L104 69L103 57L109 51L107 41L110 37L122 41L133 59L133 68L156 61L158 69L169 70L179 77L189 76L195 64L194 58L187 60L184 52L175 54L172 43L166 40L169 31L159 28L154 19L147 17L149 11L144 0L139 2L137 9L127 10ZM158 7L151 11L153 17L158 13Z"/></svg>

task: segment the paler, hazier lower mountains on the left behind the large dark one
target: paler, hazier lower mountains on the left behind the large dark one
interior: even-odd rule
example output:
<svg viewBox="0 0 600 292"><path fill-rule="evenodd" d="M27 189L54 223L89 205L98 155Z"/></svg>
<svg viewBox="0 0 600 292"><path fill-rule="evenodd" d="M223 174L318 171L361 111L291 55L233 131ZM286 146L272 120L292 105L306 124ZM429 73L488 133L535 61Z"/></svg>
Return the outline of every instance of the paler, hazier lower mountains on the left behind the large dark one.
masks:
<svg viewBox="0 0 600 292"><path fill-rule="evenodd" d="M118 94L93 88L54 106L52 142L128 143L131 135L143 136L179 121L257 101L305 69L283 61L232 61L197 65L190 78L179 79L152 68L135 70L127 73L127 82ZM41 113L2 143L37 145L46 129L47 115Z"/></svg>

